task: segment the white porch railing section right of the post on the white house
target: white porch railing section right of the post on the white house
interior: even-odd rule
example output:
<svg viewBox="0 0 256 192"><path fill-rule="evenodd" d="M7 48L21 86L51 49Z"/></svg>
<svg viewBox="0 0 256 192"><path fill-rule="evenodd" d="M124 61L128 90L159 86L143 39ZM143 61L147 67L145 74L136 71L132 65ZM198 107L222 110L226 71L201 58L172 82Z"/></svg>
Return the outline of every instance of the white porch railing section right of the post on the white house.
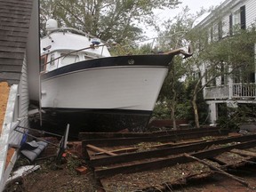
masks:
<svg viewBox="0 0 256 192"><path fill-rule="evenodd" d="M256 84L233 84L232 98L256 98Z"/></svg>

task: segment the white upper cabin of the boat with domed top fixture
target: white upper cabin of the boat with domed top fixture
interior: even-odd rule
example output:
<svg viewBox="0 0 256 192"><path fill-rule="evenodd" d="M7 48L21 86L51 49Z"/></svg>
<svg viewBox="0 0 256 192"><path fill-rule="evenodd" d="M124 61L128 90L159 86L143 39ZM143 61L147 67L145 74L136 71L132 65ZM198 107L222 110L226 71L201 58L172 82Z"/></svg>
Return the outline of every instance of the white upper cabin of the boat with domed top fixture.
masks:
<svg viewBox="0 0 256 192"><path fill-rule="evenodd" d="M75 28L58 28L56 20L48 20L46 29L48 35L41 39L41 73L83 60L110 56L107 44L102 44L94 36Z"/></svg>

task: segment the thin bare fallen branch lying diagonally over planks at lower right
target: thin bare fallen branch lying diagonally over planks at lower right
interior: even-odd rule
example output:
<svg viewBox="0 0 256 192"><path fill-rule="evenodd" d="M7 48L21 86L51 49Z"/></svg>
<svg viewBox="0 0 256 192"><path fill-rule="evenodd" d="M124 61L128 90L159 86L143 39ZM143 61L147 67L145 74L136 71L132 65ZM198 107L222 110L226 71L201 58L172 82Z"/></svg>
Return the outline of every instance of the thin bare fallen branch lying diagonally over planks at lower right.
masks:
<svg viewBox="0 0 256 192"><path fill-rule="evenodd" d="M228 178L231 178L232 180L236 180L237 182L243 184L244 186L249 187L249 183L247 183L246 181L241 180L241 179L237 178L236 176L229 174L228 172L224 172L223 170L219 169L218 167L215 167L212 164L209 164L209 163L205 162L204 160L197 158L196 156L190 156L186 153L184 154L184 156L186 156L188 158L192 158L201 164L205 164L206 166L210 167L212 170L220 172L221 174L228 176Z"/></svg>

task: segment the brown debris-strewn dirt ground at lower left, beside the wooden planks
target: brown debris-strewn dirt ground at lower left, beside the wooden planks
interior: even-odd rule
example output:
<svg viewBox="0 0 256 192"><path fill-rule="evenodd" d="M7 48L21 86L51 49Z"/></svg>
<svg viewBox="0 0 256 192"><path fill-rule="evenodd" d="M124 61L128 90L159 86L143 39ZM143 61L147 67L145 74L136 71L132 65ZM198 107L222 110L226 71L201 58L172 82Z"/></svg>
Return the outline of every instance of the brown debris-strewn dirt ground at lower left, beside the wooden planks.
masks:
<svg viewBox="0 0 256 192"><path fill-rule="evenodd" d="M28 161L21 158L15 166L27 165ZM5 188L4 192L95 192L96 185L92 171L78 174L76 168L83 161L73 157L65 157L62 164L55 164L54 159L36 162L41 168L27 176L15 180ZM15 168L14 168L15 169Z"/></svg>

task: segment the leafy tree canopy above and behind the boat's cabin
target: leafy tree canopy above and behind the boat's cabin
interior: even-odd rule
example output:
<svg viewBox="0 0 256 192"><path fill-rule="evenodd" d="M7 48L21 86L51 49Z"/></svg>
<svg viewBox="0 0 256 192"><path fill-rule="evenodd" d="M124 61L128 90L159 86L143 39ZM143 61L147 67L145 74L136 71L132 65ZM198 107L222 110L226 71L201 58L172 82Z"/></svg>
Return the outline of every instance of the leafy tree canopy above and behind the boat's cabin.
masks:
<svg viewBox="0 0 256 192"><path fill-rule="evenodd" d="M60 26L77 28L118 44L139 40L143 26L157 26L153 9L173 8L178 0L44 0L40 1L41 32L52 18Z"/></svg>

